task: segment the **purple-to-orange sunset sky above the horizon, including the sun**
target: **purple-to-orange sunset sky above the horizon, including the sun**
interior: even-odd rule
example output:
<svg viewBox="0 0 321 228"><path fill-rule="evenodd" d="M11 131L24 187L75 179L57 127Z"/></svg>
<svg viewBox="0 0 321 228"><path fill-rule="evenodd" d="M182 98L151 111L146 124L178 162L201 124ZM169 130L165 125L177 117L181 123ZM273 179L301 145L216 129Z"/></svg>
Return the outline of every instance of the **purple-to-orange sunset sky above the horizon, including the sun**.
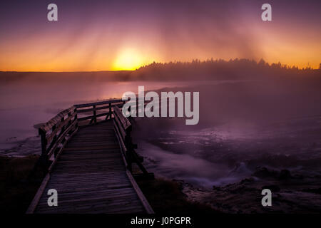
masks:
<svg viewBox="0 0 321 228"><path fill-rule="evenodd" d="M58 6L58 21L47 6ZM272 21L262 21L262 4ZM319 68L321 1L1 1L0 71L133 70L195 58Z"/></svg>

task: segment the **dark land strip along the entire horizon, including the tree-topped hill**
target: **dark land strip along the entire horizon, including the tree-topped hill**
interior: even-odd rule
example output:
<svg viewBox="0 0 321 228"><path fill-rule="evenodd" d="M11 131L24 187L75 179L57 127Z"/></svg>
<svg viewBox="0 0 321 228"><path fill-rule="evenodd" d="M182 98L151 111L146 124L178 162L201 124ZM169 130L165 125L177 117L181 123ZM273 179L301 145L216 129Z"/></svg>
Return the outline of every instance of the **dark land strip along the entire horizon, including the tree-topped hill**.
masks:
<svg viewBox="0 0 321 228"><path fill-rule="evenodd" d="M312 78L320 81L321 64L319 69L311 67L298 68L282 63L267 63L263 59L256 62L245 58L235 58L230 61L213 58L207 61L195 59L191 62L153 62L136 71L91 71L91 72L1 72L1 83L28 81L47 83L81 83L83 81L185 81L185 80L244 80L260 78Z"/></svg>

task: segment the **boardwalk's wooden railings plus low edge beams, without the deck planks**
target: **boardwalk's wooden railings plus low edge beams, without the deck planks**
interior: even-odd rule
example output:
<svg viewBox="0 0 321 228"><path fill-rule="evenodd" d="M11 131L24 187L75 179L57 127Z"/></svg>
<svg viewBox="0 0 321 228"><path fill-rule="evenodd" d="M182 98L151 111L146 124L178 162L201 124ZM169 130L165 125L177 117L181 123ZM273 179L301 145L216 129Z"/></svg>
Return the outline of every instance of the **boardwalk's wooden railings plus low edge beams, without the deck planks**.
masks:
<svg viewBox="0 0 321 228"><path fill-rule="evenodd" d="M106 100L99 103L88 103L81 105L73 105L71 108L67 108L63 110L61 113L58 113L54 118L49 120L47 123L44 123L39 128L39 135L41 136L41 157L37 165L43 165L44 171L46 172L46 177L44 177L39 190L37 191L34 199L32 200L29 208L27 210L27 214L31 214L37 207L41 195L44 193L45 187L49 182L49 178L51 176L51 171L53 170L54 165L56 164L59 155L63 151L63 148L66 146L68 140L70 140L73 135L75 135L78 131L78 123L81 121L78 118L78 113L88 113L93 112L91 116L94 123L97 121L97 117L103 116L101 114L97 114L96 110L102 110L106 108L104 107L96 107L96 105L106 105L109 110L106 119L113 118L114 130L116 132L116 138L118 139L120 148L121 148L121 157L123 158L123 162L126 165L126 175L128 179L131 181L134 190L136 191L138 198L141 199L143 207L145 207L146 212L148 214L153 213L153 209L151 205L148 204L146 197L143 195L141 190L139 189L137 183L133 179L133 177L144 178L144 179L153 179L153 173L149 173L146 171L145 167L141 164L143 162L143 157L139 156L134 149L137 148L137 145L133 144L131 138L131 130L132 125L128 118L124 117L120 107L125 103L123 100ZM90 110L86 110L81 112L81 108L93 107ZM88 108L87 108L88 109ZM92 123L92 121L91 121ZM89 124L91 124L89 123ZM54 155L54 156L53 156ZM54 158L51 164L49 164L49 160ZM136 163L141 171L142 175L133 174L132 164Z"/></svg>

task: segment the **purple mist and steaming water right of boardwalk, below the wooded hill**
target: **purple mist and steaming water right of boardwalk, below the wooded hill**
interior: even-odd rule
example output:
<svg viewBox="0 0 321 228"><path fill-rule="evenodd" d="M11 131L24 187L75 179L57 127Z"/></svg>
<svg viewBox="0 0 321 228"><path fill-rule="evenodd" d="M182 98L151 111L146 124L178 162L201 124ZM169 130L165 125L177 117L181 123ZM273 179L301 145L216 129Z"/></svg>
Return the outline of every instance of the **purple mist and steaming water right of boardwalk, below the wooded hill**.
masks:
<svg viewBox="0 0 321 228"><path fill-rule="evenodd" d="M321 94L302 82L191 86L200 91L198 125L136 119L134 139L148 170L205 188L239 182L258 167L320 175Z"/></svg>

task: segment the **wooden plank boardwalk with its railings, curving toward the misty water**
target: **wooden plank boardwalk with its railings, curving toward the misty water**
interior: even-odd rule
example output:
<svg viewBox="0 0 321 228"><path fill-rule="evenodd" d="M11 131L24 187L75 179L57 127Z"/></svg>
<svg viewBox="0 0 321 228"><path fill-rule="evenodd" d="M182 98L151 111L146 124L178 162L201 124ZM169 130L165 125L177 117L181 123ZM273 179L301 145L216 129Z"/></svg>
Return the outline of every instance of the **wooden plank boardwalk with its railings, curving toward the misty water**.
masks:
<svg viewBox="0 0 321 228"><path fill-rule="evenodd" d="M141 169L137 177L153 174L135 151L132 125L123 117L122 105L122 100L73 105L39 128L39 162L48 172L27 214L153 213L133 177L132 164ZM50 189L58 193L58 206L48 204Z"/></svg>

